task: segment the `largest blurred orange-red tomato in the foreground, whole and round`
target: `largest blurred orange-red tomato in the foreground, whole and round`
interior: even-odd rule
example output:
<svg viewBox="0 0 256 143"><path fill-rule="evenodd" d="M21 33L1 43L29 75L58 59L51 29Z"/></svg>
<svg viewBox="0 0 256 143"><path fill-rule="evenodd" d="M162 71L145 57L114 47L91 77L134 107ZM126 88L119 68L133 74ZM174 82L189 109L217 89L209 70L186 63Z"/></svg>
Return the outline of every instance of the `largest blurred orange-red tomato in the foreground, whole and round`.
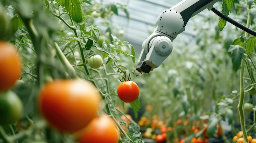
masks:
<svg viewBox="0 0 256 143"><path fill-rule="evenodd" d="M84 128L97 117L101 97L89 81L55 80L40 90L38 108L51 126L61 132Z"/></svg>

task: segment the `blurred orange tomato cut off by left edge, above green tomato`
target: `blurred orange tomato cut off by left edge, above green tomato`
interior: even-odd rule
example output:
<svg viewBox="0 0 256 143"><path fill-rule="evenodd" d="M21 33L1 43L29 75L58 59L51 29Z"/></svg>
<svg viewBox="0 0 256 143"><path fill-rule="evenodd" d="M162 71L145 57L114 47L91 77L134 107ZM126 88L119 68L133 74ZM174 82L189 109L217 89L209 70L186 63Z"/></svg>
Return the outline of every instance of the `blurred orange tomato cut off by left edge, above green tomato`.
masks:
<svg viewBox="0 0 256 143"><path fill-rule="evenodd" d="M20 56L16 47L0 41L0 91L11 88L21 73Z"/></svg>

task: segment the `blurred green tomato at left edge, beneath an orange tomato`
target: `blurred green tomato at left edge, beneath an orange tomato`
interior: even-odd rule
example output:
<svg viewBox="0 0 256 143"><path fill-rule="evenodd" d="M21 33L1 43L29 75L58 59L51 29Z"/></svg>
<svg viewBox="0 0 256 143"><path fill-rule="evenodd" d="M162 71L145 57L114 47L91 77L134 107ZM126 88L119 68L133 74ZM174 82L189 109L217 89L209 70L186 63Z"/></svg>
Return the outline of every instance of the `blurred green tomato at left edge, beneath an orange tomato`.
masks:
<svg viewBox="0 0 256 143"><path fill-rule="evenodd" d="M11 90L0 93L0 125L16 122L23 111L22 101Z"/></svg>

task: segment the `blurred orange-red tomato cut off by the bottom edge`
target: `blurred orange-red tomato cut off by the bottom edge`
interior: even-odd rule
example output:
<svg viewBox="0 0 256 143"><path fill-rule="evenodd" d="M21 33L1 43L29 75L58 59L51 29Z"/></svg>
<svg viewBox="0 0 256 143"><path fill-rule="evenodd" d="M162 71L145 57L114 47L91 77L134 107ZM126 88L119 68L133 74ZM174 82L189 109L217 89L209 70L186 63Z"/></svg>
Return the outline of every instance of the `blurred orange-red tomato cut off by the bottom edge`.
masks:
<svg viewBox="0 0 256 143"><path fill-rule="evenodd" d="M110 117L103 115L94 118L74 136L78 137L79 143L118 143L119 141L117 125Z"/></svg>

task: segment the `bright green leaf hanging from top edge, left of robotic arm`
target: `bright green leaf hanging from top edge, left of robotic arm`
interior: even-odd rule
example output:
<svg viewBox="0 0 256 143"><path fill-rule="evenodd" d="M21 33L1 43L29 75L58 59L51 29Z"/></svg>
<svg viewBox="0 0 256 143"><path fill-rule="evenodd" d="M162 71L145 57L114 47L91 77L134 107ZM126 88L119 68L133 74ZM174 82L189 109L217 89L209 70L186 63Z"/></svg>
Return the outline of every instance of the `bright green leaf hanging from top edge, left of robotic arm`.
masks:
<svg viewBox="0 0 256 143"><path fill-rule="evenodd" d="M60 0L60 4L65 7L65 10L70 14L74 22L83 22L83 12L79 0Z"/></svg>

